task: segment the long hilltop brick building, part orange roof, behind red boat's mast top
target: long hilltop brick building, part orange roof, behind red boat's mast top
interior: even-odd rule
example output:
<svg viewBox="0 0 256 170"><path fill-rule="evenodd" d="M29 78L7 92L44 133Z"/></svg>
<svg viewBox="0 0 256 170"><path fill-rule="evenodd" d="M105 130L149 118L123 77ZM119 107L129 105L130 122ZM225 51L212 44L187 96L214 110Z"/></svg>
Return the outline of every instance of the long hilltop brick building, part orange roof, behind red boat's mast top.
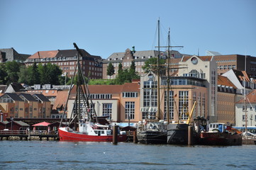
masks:
<svg viewBox="0 0 256 170"><path fill-rule="evenodd" d="M82 74L89 79L102 79L101 57L90 55L87 51L82 50L83 57L79 57ZM62 69L63 74L72 77L77 66L77 50L52 50L38 51L28 57L25 61L26 66L37 64L56 64Z"/></svg>

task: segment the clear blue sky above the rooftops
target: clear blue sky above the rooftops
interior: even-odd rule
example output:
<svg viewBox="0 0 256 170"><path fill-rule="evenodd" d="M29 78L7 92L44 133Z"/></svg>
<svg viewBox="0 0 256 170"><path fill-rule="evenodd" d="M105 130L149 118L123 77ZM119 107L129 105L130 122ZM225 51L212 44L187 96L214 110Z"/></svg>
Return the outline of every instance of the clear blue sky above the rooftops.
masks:
<svg viewBox="0 0 256 170"><path fill-rule="evenodd" d="M0 49L18 53L74 49L108 58L113 52L157 50L256 57L255 0L0 0ZM161 50L166 50L161 48Z"/></svg>

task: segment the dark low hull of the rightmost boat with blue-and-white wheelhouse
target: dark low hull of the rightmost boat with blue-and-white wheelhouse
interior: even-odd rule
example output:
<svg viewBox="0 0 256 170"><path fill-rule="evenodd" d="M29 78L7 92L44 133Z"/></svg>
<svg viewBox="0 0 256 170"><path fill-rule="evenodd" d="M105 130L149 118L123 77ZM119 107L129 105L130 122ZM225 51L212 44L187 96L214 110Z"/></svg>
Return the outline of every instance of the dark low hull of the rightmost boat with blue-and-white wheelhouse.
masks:
<svg viewBox="0 0 256 170"><path fill-rule="evenodd" d="M201 145L242 145L241 134L228 132L201 132Z"/></svg>

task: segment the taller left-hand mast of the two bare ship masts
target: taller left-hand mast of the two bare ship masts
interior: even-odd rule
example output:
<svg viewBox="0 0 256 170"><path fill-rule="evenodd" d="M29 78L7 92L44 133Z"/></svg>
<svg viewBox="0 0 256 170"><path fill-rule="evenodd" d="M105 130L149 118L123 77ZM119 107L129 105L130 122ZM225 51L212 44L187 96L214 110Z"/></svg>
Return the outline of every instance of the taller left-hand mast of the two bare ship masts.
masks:
<svg viewBox="0 0 256 170"><path fill-rule="evenodd" d="M160 18L158 18L158 56L157 56L157 116L160 120Z"/></svg>

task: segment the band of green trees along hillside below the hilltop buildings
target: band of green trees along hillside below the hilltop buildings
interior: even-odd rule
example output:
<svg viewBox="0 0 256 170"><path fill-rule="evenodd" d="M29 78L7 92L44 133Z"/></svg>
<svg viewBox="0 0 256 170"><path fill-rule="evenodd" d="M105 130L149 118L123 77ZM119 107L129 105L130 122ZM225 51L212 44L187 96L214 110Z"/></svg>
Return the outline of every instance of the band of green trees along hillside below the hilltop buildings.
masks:
<svg viewBox="0 0 256 170"><path fill-rule="evenodd" d="M160 64L164 64L165 60L160 60ZM145 62L145 65L142 67L144 72L154 72L156 69L157 58L150 58ZM155 68L154 68L155 67ZM118 73L116 78L108 82L108 84L124 84L131 82L133 79L140 79L138 72L135 72L135 62L132 61L129 69L123 69L121 63L118 64ZM115 69L112 63L108 64L107 73L108 76L113 76L115 74ZM89 75L88 75L89 77ZM106 80L102 82L91 81L86 77L88 84L105 84ZM62 77L62 69L56 64L36 64L33 63L32 66L26 67L24 64L19 62L6 62L0 63L0 84L9 85L12 82L18 82L23 84L28 84L33 86L34 84L54 84L62 85L65 84L65 77ZM74 77L74 84L77 82L77 77ZM66 76L66 83L70 84L71 79Z"/></svg>

